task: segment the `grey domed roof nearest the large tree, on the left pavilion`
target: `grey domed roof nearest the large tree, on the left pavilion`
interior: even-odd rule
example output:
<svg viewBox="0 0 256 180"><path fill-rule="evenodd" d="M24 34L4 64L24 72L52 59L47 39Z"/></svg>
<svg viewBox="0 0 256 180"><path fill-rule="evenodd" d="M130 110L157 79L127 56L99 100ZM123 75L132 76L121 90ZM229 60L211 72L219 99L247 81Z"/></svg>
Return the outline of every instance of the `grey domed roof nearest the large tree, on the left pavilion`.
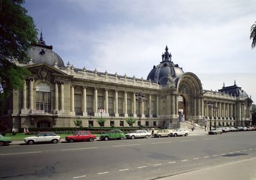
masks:
<svg viewBox="0 0 256 180"><path fill-rule="evenodd" d="M61 57L52 50L52 45L45 45L42 33L38 43L33 45L29 50L28 56L31 56L33 63L36 64L45 63L54 66L54 61L56 60L58 67L65 67Z"/></svg>

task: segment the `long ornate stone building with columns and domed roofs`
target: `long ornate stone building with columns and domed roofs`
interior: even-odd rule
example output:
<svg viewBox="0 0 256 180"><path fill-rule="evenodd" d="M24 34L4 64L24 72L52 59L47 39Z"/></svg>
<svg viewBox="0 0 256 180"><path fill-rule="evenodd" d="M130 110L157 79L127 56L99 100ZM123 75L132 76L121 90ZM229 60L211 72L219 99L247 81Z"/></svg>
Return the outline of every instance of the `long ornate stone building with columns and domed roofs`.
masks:
<svg viewBox="0 0 256 180"><path fill-rule="evenodd" d="M31 71L31 76L24 79L23 91L13 91L6 105L4 116L13 128L72 127L76 119L84 127L97 127L100 116L106 118L104 126L120 127L128 126L126 117L139 119L140 114L145 127L173 128L182 121L209 125L211 115L217 126L252 122L253 101L236 82L219 91L204 90L194 73L173 63L167 46L162 62L147 80L79 69L70 63L65 66L52 46L45 45L42 34L28 54L28 62L14 61ZM136 93L144 95L141 104L136 102Z"/></svg>

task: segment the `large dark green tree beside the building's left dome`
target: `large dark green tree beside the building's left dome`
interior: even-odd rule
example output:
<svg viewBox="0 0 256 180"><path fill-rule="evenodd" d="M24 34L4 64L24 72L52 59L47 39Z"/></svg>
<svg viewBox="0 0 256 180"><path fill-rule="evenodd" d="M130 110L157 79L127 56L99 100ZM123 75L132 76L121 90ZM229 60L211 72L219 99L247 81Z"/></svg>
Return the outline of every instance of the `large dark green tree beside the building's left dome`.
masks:
<svg viewBox="0 0 256 180"><path fill-rule="evenodd" d="M26 68L16 66L15 61L28 59L31 43L36 43L37 31L32 17L21 6L24 0L1 1L0 10L0 79L6 82L4 93L22 89L25 77L30 73Z"/></svg>

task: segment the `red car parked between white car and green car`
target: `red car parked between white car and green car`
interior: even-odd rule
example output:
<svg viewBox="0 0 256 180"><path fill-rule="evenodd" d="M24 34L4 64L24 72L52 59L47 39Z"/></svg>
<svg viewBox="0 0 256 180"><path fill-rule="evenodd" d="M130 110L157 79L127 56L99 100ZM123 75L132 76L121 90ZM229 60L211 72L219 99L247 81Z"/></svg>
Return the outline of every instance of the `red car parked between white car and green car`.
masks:
<svg viewBox="0 0 256 180"><path fill-rule="evenodd" d="M74 135L69 135L65 137L65 140L67 142L74 142L74 141L90 141L93 142L93 140L96 139L96 135L92 135L90 131L77 131L74 133Z"/></svg>

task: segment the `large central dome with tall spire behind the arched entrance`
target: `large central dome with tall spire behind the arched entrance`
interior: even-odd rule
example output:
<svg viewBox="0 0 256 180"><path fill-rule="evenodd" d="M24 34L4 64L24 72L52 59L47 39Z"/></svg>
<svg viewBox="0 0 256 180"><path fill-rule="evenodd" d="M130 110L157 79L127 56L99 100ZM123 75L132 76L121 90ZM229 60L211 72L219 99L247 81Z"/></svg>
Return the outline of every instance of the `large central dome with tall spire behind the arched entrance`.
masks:
<svg viewBox="0 0 256 180"><path fill-rule="evenodd" d="M147 80L151 79L160 85L166 85L169 78L172 77L174 80L180 77L184 71L179 67L178 64L172 62L172 54L168 52L168 47L166 45L165 52L162 55L162 62L153 69L148 74Z"/></svg>

